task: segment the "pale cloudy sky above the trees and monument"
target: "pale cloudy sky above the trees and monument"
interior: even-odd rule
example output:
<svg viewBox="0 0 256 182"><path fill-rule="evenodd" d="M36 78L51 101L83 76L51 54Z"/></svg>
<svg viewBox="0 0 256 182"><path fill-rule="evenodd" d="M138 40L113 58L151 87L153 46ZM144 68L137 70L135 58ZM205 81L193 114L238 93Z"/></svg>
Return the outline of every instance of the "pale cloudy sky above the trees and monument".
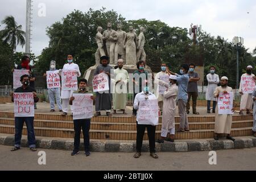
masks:
<svg viewBox="0 0 256 182"><path fill-rule="evenodd" d="M13 15L16 22L26 28L26 0L0 0L0 20ZM39 56L48 47L46 28L61 21L73 10L87 12L90 8L115 10L126 20L161 20L171 27L189 28L191 23L202 25L212 36L222 36L232 42L241 36L244 45L252 52L256 47L255 0L33 0L31 50ZM43 6L42 6L43 5ZM42 14L46 7L45 16ZM4 27L2 24L0 30ZM18 47L16 51L23 51Z"/></svg>

